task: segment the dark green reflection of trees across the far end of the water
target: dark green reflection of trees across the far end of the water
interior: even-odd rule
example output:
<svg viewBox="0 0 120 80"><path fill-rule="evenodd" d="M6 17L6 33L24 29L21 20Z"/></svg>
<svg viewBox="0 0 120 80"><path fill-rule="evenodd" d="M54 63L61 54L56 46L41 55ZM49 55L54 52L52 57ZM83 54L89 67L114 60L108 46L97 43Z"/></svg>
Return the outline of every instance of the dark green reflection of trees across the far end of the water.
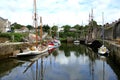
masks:
<svg viewBox="0 0 120 80"><path fill-rule="evenodd" d="M96 54L85 45L73 45L71 43L62 43L62 46L60 46L59 49L64 51L66 57L69 57L70 52L74 51L76 57L85 54L88 55L90 57L90 60L92 61L95 61L95 59L97 58Z"/></svg>

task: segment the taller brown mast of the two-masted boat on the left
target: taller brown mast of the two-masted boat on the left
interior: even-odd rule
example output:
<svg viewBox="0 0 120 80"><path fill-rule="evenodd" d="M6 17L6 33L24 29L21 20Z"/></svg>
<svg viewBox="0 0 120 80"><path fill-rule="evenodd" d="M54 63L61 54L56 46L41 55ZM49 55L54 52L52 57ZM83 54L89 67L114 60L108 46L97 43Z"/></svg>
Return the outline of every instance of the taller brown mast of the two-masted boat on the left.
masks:
<svg viewBox="0 0 120 80"><path fill-rule="evenodd" d="M35 27L35 31L36 31L36 47L38 45L38 31L37 31L37 10L36 10L36 0L34 0L34 27Z"/></svg>

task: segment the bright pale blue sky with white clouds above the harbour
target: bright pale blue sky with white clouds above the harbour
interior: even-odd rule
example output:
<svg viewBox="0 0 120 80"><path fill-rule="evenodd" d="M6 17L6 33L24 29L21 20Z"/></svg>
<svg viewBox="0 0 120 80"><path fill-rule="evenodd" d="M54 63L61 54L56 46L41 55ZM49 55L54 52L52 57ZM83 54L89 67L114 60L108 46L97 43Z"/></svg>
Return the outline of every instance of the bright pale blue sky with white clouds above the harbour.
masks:
<svg viewBox="0 0 120 80"><path fill-rule="evenodd" d="M50 26L87 25L93 9L93 19L102 24L111 23L120 18L119 0L36 0L37 19ZM33 0L0 0L0 17L11 23L33 25Z"/></svg>

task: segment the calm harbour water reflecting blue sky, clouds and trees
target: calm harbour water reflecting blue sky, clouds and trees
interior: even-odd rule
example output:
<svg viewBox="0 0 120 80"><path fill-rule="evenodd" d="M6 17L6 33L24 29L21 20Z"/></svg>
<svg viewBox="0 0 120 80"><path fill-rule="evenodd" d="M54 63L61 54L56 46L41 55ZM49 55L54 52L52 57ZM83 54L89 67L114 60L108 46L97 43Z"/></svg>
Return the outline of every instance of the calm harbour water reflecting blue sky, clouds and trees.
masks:
<svg viewBox="0 0 120 80"><path fill-rule="evenodd" d="M40 56L37 56L37 58ZM49 55L0 61L0 80L119 80L120 69L83 45L62 44Z"/></svg>

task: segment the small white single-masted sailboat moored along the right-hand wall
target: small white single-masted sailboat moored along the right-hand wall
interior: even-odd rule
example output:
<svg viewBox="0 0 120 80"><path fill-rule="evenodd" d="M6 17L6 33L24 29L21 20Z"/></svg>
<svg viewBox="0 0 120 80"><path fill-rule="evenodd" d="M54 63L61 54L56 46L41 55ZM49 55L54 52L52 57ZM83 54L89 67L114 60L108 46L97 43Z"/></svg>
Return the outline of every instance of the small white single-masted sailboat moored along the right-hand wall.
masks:
<svg viewBox="0 0 120 80"><path fill-rule="evenodd" d="M102 39L103 45L100 48L98 48L98 53L104 55L104 54L108 53L109 51L108 51L107 47L105 47L105 45L104 45L104 19L103 19L103 13L102 13L102 20L103 20L103 28L102 28L102 31L103 31L103 35L102 35L102 37L103 37L103 39Z"/></svg>

